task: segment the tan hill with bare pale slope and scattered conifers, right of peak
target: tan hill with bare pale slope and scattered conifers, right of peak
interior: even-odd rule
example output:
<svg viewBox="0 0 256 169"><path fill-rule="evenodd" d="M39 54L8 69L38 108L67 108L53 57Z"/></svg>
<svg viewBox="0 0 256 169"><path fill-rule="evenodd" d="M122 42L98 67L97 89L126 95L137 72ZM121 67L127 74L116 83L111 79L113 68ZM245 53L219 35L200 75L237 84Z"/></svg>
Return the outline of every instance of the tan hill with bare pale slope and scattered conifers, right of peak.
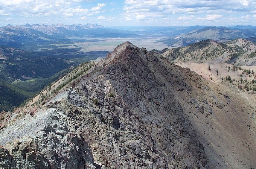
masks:
<svg viewBox="0 0 256 169"><path fill-rule="evenodd" d="M162 52L170 62L215 83L256 91L256 44L245 39L219 43L204 40Z"/></svg>

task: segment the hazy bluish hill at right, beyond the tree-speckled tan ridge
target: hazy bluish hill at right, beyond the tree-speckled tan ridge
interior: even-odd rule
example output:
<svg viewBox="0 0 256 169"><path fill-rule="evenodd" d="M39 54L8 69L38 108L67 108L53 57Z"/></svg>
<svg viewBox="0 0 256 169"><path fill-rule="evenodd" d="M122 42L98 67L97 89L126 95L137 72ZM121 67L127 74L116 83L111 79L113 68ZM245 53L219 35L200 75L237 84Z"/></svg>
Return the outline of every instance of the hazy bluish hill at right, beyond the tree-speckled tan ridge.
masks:
<svg viewBox="0 0 256 169"><path fill-rule="evenodd" d="M208 26L199 30L191 31L189 33L162 39L157 42L168 44L168 46L181 47L206 39L227 41L237 38L249 38L256 36L256 27L254 26L244 26L242 27L243 29L238 29L237 27L227 28Z"/></svg>

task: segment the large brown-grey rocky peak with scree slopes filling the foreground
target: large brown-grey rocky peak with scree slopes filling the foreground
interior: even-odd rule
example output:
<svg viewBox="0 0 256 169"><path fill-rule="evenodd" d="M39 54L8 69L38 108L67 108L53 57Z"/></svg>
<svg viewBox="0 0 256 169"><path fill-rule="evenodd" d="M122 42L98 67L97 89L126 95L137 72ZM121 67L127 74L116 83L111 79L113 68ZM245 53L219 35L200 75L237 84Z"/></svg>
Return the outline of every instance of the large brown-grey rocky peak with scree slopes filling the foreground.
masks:
<svg viewBox="0 0 256 169"><path fill-rule="evenodd" d="M255 168L253 103L125 42L41 105L0 114L0 168Z"/></svg>

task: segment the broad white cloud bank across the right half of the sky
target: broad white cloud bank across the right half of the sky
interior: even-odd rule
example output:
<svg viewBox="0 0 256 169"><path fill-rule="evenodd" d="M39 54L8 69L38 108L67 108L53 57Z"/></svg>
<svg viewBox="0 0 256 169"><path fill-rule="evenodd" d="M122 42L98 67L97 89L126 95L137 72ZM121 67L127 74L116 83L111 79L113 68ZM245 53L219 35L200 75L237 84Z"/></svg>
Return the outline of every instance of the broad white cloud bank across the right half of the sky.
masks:
<svg viewBox="0 0 256 169"><path fill-rule="evenodd" d="M198 20L214 21L224 14L236 13L238 15L239 12L246 14L255 11L255 6L256 2L252 0L125 0L123 7L125 13L122 15L126 20L137 20L138 18L148 20L159 16L188 20L192 17L186 15L192 14ZM202 15L206 15L206 17L202 17Z"/></svg>

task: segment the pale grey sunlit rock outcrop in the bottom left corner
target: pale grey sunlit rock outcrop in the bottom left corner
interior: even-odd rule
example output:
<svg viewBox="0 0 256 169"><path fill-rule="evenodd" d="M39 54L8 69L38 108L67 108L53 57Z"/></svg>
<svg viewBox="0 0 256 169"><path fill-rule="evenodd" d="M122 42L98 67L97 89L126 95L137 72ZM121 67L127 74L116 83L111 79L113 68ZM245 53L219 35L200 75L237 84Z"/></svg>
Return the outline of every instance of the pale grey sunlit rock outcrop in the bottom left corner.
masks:
<svg viewBox="0 0 256 169"><path fill-rule="evenodd" d="M9 137L2 136L0 140L5 145L1 148L0 166L22 169L96 168L90 147L76 134L69 115L56 109L46 111L40 111L46 116L27 114L21 119L22 123L5 128ZM37 118L38 121L35 120ZM35 123L31 121L33 119ZM31 122L34 128L29 126ZM15 129L16 125L21 126Z"/></svg>

